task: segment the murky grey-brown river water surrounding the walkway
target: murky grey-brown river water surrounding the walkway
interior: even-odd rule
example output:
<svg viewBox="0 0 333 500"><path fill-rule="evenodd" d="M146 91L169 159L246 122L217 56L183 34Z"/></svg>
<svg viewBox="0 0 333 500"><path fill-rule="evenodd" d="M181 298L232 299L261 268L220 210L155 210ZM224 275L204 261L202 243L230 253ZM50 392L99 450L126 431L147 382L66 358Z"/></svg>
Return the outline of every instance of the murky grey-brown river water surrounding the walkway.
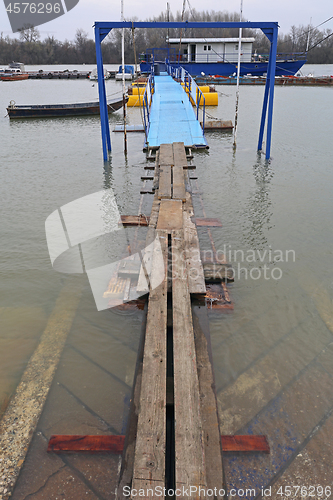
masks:
<svg viewBox="0 0 333 500"><path fill-rule="evenodd" d="M333 65L308 65L302 71L333 74ZM121 92L120 82L106 85L110 96ZM216 89L219 106L208 108L208 114L234 121L235 87ZM285 442L290 439L297 453L333 405L333 88L275 87L270 162L256 151L263 92L262 86L240 88L236 150L230 133L210 132L209 150L194 153L195 191L200 193L194 195L194 208L200 216L201 196L207 217L222 221L222 228L212 230L215 245L236 272L229 287L234 311L210 314L223 433L271 436L288 412ZM0 83L2 409L71 279L52 269L46 218L66 203L107 188L113 189L121 213L136 214L147 163L142 133L128 134L126 159L122 134L112 132L112 159L105 165L98 117L10 122L5 108L10 100L47 104L95 98L97 84L89 80ZM138 108L127 112L130 124L141 123ZM111 130L121 120L121 110L110 116ZM148 210L149 201L142 211ZM199 229L199 237L209 250L205 229ZM74 326L82 349L88 353L94 344L92 325L108 333L94 349L101 356L107 349L116 353L112 372L130 386L142 313L98 313L86 275L78 275L77 283L83 297ZM87 390L105 399L96 384L92 375ZM119 404L123 415L124 402ZM281 421L271 420L270 428L272 405L279 405ZM112 424L121 432L119 415ZM323 442L332 444L328 432ZM235 463L229 460L226 468L233 478Z"/></svg>

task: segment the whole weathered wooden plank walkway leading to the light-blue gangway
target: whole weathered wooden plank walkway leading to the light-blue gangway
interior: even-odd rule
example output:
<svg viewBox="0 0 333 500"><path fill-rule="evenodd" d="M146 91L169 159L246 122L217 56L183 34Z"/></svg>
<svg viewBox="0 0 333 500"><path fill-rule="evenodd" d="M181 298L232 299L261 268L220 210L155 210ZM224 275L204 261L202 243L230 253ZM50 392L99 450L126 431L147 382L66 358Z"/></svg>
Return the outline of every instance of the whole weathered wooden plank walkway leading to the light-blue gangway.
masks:
<svg viewBox="0 0 333 500"><path fill-rule="evenodd" d="M186 192L185 178L188 175L187 159L183 144L163 144L156 159L155 175L158 173L158 189L155 192L152 215L146 243L154 241L154 251L149 251L151 262L149 283L142 286L147 273L142 265L138 287L149 291L146 340L142 364L141 393L137 423L137 439L133 468L132 487L152 489L167 482L165 476L165 457L170 454L166 443L166 365L168 361L167 331L172 325L172 366L173 385L172 407L174 412L174 487L189 488L196 491L190 498L199 498L199 488L207 488L207 473L210 487L222 485L221 438L217 416L217 404L213 393L213 372L207 354L207 345L195 345L192 319L191 295L206 292L203 266L200 260L199 239L195 224L191 221L193 206L190 193ZM168 171L166 181L166 168ZM176 167L176 182L174 169ZM156 180L156 177L154 176ZM169 185L167 185L167 182ZM168 192L170 198L163 198ZM156 245L162 250L155 250ZM156 252L163 255L158 260ZM192 271L195 271L194 273ZM161 272L163 276L161 276ZM171 307L171 322L167 322L168 278ZM155 278L158 275L158 278ZM154 281L159 284L156 288ZM170 289L171 284L171 289ZM171 302L171 306L170 306ZM197 325L198 330L198 325ZM198 330L198 338L202 335ZM198 376L197 350L201 368ZM169 360L170 362L170 360ZM210 387L210 390L209 390ZM200 393L200 388L202 393ZM206 404L207 389L209 410ZM211 391L211 392L210 392ZM170 401L169 401L170 405ZM208 414L207 414L208 411ZM202 420L202 412L205 422ZM212 428L208 427L214 422ZM207 449L207 438L209 446ZM206 438L206 441L205 441ZM170 439L170 437L169 437ZM213 455L211 450L214 450ZM206 452L212 471L207 472ZM121 483L123 484L123 483ZM121 495L119 496L121 498ZM147 493L146 498L153 498Z"/></svg>

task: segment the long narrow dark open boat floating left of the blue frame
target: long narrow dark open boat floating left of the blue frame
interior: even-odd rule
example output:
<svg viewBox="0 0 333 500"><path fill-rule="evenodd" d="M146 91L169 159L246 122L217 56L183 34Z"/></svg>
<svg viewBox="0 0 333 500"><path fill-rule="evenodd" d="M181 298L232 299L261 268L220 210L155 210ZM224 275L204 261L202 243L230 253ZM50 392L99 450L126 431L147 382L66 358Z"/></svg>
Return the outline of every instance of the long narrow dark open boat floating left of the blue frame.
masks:
<svg viewBox="0 0 333 500"><path fill-rule="evenodd" d="M126 97L126 102L128 97ZM123 98L108 101L108 112L113 113L123 106ZM75 104L36 104L16 105L10 101L7 108L9 118L50 118L57 116L90 116L99 115L99 102L84 102Z"/></svg>

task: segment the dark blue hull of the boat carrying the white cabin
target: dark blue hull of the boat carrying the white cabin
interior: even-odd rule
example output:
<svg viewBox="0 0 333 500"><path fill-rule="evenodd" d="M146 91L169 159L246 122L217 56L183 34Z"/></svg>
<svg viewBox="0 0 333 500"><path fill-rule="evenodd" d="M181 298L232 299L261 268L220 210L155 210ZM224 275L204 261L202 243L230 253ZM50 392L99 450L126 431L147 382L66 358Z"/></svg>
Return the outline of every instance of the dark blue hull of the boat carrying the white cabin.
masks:
<svg viewBox="0 0 333 500"><path fill-rule="evenodd" d="M155 63L158 61L155 61ZM283 75L295 75L297 71L306 63L306 59L301 59L298 61L277 61L276 62L276 76ZM162 65L164 63L161 63ZM176 65L177 63L175 63ZM205 75L219 75L219 76L230 76L237 73L237 64L232 63L196 63L196 62L181 62L181 66L186 69L192 76L202 76ZM141 73L149 73L151 65L145 61L140 63ZM249 73L253 76L263 76L267 73L268 62L247 62L241 64L240 74L241 76L248 75Z"/></svg>

